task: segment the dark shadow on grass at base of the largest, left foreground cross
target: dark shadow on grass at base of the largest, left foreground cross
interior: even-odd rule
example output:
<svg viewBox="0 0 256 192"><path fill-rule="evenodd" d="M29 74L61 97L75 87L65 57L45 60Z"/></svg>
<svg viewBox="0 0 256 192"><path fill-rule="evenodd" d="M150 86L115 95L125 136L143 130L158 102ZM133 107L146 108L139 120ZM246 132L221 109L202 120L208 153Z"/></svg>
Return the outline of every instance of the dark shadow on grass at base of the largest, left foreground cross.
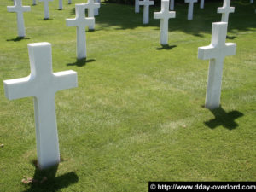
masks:
<svg viewBox="0 0 256 192"><path fill-rule="evenodd" d="M36 166L37 161L33 161L33 164ZM79 177L75 172L67 172L64 175L55 177L57 170L58 165L44 170L40 170L36 166L34 177L32 178L33 182L29 185L30 188L24 192L54 192L67 188L67 186L79 181Z"/></svg>

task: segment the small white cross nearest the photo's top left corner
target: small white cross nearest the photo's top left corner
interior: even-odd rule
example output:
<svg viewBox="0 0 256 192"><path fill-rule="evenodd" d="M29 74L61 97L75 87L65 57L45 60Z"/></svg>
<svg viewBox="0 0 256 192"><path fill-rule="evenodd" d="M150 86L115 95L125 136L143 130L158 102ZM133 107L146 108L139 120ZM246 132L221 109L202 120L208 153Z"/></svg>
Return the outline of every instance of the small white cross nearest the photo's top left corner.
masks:
<svg viewBox="0 0 256 192"><path fill-rule="evenodd" d="M7 6L9 12L16 12L17 14L17 26L18 26L18 36L25 37L25 26L23 12L30 11L30 6L22 6L22 0L15 0L15 6Z"/></svg>

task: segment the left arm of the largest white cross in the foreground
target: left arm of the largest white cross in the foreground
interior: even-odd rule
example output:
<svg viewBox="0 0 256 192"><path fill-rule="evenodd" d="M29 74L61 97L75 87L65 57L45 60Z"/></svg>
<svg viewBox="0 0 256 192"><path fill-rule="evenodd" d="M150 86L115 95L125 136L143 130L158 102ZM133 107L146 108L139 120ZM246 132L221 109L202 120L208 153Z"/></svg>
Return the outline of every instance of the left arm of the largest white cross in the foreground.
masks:
<svg viewBox="0 0 256 192"><path fill-rule="evenodd" d="M20 99L28 96L35 96L32 89L32 77L4 80L4 92L9 100Z"/></svg>

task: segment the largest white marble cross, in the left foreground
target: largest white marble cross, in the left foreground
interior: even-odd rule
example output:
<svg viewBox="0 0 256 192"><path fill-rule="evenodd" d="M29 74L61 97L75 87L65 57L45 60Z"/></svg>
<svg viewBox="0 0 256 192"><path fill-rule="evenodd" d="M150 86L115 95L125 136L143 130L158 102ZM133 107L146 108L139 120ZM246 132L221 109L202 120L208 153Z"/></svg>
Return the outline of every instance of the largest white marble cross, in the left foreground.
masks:
<svg viewBox="0 0 256 192"><path fill-rule="evenodd" d="M55 92L78 86L77 73L52 72L51 44L28 44L31 74L26 78L4 80L9 100L34 97L38 164L47 168L60 162L55 115Z"/></svg>

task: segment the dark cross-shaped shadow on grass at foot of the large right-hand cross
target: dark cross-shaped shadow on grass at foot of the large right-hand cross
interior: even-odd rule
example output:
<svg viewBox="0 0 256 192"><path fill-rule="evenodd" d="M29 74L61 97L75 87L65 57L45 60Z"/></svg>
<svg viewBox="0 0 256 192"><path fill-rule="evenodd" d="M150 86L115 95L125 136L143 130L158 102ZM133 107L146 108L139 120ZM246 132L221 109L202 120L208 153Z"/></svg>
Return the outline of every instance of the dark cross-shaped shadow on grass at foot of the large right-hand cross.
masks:
<svg viewBox="0 0 256 192"><path fill-rule="evenodd" d="M215 119L211 119L205 122L205 125L207 125L211 129L214 129L220 125L223 125L225 128L229 130L236 129L238 124L235 122L235 119L243 116L243 113L239 111L231 111L227 113L221 106L210 111L215 116Z"/></svg>

